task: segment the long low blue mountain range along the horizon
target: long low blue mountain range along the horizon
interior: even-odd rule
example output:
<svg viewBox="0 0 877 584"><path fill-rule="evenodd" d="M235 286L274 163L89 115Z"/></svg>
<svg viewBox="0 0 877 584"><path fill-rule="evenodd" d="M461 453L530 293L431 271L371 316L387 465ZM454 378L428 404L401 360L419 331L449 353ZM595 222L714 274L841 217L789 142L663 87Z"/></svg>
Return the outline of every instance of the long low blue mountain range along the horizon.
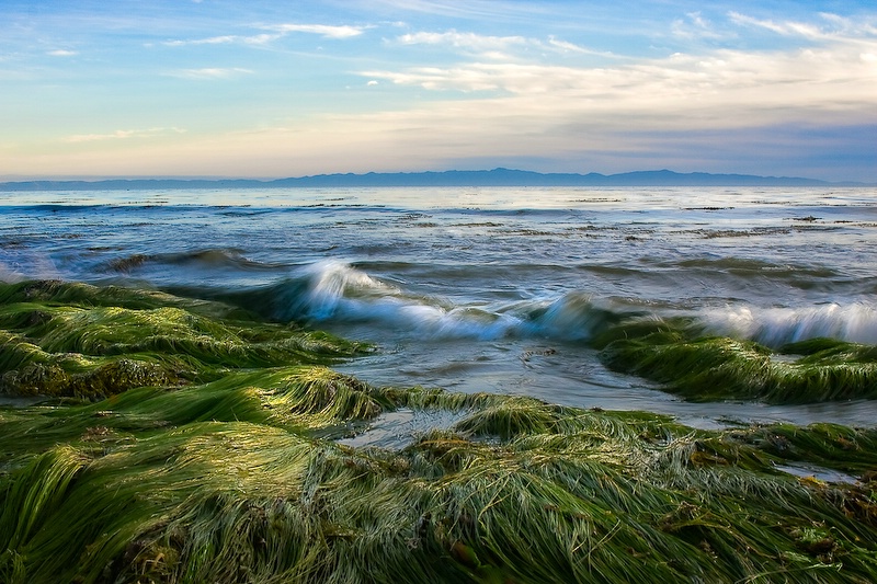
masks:
<svg viewBox="0 0 877 584"><path fill-rule="evenodd" d="M444 172L368 172L317 174L273 181L113 179L106 181L25 181L0 183L0 191L140 191L158 188L272 188L343 186L868 186L794 176L680 173L670 170L620 174L539 173L524 170L448 170Z"/></svg>

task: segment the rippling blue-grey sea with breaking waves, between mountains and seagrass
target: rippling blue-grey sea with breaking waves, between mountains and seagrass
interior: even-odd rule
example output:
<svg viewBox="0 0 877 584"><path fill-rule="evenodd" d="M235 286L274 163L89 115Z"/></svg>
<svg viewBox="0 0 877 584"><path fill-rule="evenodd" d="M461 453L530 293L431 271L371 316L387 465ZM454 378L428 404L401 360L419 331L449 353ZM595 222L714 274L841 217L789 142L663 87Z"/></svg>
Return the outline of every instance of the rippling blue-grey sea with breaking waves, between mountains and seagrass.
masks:
<svg viewBox="0 0 877 584"><path fill-rule="evenodd" d="M428 187L0 194L0 280L231 300L376 351L374 385L533 396L716 427L877 425L877 403L690 403L607 370L606 322L877 344L877 190Z"/></svg>

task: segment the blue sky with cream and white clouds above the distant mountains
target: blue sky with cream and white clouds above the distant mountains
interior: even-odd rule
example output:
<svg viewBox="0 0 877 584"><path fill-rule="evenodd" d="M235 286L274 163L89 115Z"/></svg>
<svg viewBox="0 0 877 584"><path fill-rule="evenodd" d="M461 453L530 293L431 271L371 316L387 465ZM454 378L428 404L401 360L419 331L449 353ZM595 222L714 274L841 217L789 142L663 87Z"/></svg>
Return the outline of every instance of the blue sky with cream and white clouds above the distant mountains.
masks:
<svg viewBox="0 0 877 584"><path fill-rule="evenodd" d="M874 0L3 0L0 180L877 182Z"/></svg>

